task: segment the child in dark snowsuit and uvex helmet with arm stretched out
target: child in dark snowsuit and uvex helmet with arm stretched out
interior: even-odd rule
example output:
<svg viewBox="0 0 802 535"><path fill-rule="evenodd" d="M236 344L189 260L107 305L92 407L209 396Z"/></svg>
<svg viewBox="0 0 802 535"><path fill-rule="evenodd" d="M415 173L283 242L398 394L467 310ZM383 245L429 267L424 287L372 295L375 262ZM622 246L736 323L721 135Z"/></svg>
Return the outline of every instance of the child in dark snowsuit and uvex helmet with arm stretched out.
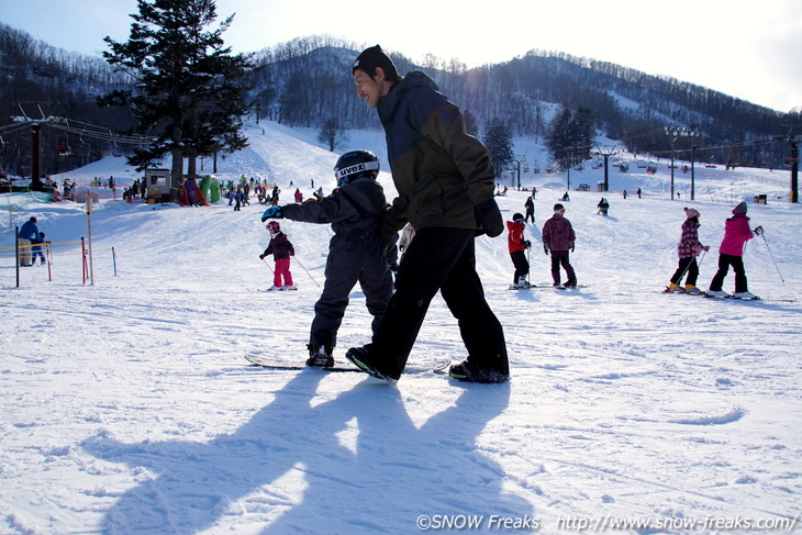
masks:
<svg viewBox="0 0 802 535"><path fill-rule="evenodd" d="M379 224L387 209L385 192L376 181L379 159L368 151L352 151L339 157L334 171L337 189L328 197L310 199L303 204L271 207L263 215L263 221L287 218L331 223L334 231L328 243L326 281L314 304L308 366L334 366L332 352L337 331L348 305L348 294L357 281L374 316L374 331L392 297L392 275L379 239Z"/></svg>

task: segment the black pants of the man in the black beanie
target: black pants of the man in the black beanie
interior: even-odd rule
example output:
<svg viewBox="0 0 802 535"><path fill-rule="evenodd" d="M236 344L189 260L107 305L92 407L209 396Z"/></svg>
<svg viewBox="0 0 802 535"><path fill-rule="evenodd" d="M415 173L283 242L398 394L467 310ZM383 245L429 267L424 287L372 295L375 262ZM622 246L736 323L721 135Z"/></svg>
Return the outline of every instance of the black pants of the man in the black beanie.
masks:
<svg viewBox="0 0 802 535"><path fill-rule="evenodd" d="M393 376L403 371L428 304L439 290L457 319L471 366L510 372L504 332L476 272L474 241L471 229L427 227L415 233L399 267L396 293L368 347L381 371Z"/></svg>

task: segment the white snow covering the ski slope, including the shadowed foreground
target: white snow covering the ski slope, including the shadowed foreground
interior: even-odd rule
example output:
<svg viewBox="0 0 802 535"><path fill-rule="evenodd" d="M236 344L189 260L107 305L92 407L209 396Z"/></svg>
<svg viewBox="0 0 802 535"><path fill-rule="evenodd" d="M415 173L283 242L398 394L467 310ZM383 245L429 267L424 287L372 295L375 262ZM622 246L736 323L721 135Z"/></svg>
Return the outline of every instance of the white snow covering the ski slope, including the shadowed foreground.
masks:
<svg viewBox="0 0 802 535"><path fill-rule="evenodd" d="M337 156L314 132L263 123L249 135L248 149L221 161L223 180L278 180L285 201L290 180L305 194L312 179L334 186ZM352 147L383 157L382 144L379 133L352 133ZM539 229L565 176L545 174L534 144L517 140L516 153L543 169L522 181L538 187L527 232L531 278L544 283ZM248 366L249 352L304 358L327 226L282 221L300 291L258 292L270 272L258 259L268 235L256 202L234 212L226 202L104 198L91 215L92 286L82 283L74 242L88 235L85 207L18 199L10 221L35 215L54 242L53 280L47 267L24 268L16 288L3 253L0 533L758 531L745 521L798 530L802 213L772 197L750 205L767 242L751 241L745 263L762 301L660 294L689 202L688 177L677 174L683 200L668 200L659 167L656 176L634 161L628 174L611 170L612 188L639 186L646 196L608 193L608 218L597 215L599 193L571 192L572 263L587 288L510 291L505 234L477 239L508 341L513 378L504 386L420 371L390 386L363 374ZM783 194L789 175L699 167L692 205L701 241L713 246L701 266L706 288L734 203ZM601 172L571 171L571 183L594 189ZM123 185L137 176L107 158L56 178L109 175ZM380 181L391 196L390 176ZM498 198L508 219L526 194ZM0 234L0 245L11 236ZM733 282L731 274L725 289ZM368 342L358 287L350 298L338 358ZM439 297L410 364L433 357L465 357ZM627 520L643 525L612 527Z"/></svg>

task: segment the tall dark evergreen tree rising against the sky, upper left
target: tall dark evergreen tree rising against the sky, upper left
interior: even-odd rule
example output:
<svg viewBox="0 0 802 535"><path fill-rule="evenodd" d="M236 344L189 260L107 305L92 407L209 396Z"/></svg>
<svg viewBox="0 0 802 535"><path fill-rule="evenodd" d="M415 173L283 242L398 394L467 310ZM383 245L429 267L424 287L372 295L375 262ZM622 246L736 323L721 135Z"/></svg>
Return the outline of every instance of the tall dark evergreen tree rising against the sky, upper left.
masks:
<svg viewBox="0 0 802 535"><path fill-rule="evenodd" d="M247 113L245 76L249 56L232 55L222 33L232 16L216 30L214 0L138 0L125 43L105 37L111 52L105 60L129 73L135 89L118 90L99 99L105 105L129 105L135 130L153 141L134 151L131 165L144 169L172 154L172 180L182 175L183 157L194 174L197 156L234 152L247 145L240 130Z"/></svg>

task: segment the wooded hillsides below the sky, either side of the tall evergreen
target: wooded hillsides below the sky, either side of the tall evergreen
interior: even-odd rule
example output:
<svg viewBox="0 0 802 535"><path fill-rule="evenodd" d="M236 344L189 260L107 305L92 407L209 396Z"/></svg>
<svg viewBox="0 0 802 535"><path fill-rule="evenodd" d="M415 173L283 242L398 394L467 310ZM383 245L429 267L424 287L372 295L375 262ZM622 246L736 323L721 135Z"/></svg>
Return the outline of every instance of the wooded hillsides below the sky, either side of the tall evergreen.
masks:
<svg viewBox="0 0 802 535"><path fill-rule="evenodd" d="M299 37L252 56L248 99L259 119L291 126L380 130L375 111L356 98L350 66L363 45L319 35ZM699 161L780 167L789 153L789 125L800 111L758 107L669 77L615 64L532 51L506 63L467 68L427 56L414 65L389 51L400 73L420 69L460 105L477 135L500 121L515 136L543 143L565 109L590 110L597 132L619 148ZM130 154L133 115L100 108L98 97L132 88L127 74L99 56L65 52L0 23L0 166L31 169L30 121L57 118L42 129L42 172L60 172L101 155ZM20 120L19 118L23 118ZM677 140L666 126L694 130Z"/></svg>

